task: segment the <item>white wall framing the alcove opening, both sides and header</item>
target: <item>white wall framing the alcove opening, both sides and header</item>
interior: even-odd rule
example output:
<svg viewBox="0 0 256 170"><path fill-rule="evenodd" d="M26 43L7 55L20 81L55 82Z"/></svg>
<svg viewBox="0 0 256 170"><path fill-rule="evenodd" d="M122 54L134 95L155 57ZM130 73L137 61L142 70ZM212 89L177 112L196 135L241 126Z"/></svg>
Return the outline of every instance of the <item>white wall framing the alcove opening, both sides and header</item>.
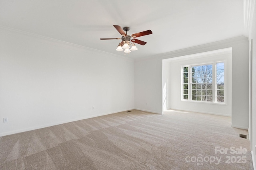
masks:
<svg viewBox="0 0 256 170"><path fill-rule="evenodd" d="M229 47L232 47L232 127L248 129L249 46L248 39L243 36L136 60L135 108L160 114L163 112L162 92L165 80L161 80L162 59ZM243 82L242 88L240 82Z"/></svg>

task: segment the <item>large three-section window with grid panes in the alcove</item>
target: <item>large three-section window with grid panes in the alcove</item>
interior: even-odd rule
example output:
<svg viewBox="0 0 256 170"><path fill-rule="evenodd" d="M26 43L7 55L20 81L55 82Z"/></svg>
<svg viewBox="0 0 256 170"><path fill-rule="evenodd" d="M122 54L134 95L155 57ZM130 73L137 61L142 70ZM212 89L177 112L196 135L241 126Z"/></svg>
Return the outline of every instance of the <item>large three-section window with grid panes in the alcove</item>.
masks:
<svg viewBox="0 0 256 170"><path fill-rule="evenodd" d="M224 62L182 66L182 100L224 102Z"/></svg>

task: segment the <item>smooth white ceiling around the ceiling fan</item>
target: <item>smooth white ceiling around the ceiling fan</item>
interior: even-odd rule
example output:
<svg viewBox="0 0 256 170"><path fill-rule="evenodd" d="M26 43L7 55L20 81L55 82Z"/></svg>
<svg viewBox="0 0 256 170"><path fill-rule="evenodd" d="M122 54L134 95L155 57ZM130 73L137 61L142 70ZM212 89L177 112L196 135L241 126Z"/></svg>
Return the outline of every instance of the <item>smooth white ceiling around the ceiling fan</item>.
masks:
<svg viewBox="0 0 256 170"><path fill-rule="evenodd" d="M242 0L1 0L0 25L124 56L113 25L147 44L126 57L150 57L243 35Z"/></svg>

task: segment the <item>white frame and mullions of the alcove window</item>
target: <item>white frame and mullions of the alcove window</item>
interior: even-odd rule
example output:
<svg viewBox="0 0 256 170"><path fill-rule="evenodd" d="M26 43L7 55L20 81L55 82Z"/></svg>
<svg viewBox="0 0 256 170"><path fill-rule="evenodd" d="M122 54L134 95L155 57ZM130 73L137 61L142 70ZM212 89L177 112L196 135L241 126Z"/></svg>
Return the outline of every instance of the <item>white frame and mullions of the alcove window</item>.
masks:
<svg viewBox="0 0 256 170"><path fill-rule="evenodd" d="M217 72L216 67L218 63L224 63L224 102L217 102ZM211 101L198 101L192 100L192 67L194 66L206 66L212 65L212 102ZM188 99L184 99L184 67L188 67ZM186 83L185 83L186 84ZM197 84L197 83L196 83ZM200 84L200 83L199 83ZM186 89L185 89L186 90ZM186 64L181 66L181 101L185 102L197 102L207 104L226 104L226 61L215 61L211 63L198 63L198 64ZM201 95L202 96L202 95ZM207 96L207 95L206 95Z"/></svg>

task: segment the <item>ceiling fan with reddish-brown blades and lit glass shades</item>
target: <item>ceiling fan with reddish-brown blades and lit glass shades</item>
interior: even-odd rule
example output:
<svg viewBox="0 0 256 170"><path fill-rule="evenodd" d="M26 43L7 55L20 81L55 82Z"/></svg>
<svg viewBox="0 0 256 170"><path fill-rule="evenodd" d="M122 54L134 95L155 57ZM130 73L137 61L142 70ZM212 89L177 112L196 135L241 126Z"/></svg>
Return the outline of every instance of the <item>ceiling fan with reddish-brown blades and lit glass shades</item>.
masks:
<svg viewBox="0 0 256 170"><path fill-rule="evenodd" d="M123 29L122 29L122 27L120 27L119 25L113 25L113 26L122 35L122 38L100 38L100 40L122 39L122 41L119 43L116 51L123 51L123 49L125 49L124 53L130 53L131 50L132 51L137 50L137 47L135 46L134 43L137 43L137 44L140 44L140 45L145 45L146 44L146 42L135 39L134 37L141 37L141 36L144 36L144 35L152 34L151 30L147 30L147 31L142 31L142 32L135 33L135 34L132 34L132 35L127 35L127 31L130 30L130 27L123 27ZM124 31L126 31L126 33ZM130 49L130 45L132 45L131 49Z"/></svg>

